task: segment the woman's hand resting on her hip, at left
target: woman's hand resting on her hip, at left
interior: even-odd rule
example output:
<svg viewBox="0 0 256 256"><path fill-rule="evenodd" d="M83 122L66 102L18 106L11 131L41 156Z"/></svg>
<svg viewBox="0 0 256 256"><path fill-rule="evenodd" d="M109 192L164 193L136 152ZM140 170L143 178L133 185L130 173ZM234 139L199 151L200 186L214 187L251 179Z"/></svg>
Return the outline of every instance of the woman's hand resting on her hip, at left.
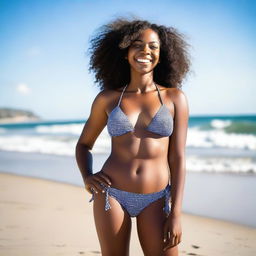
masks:
<svg viewBox="0 0 256 256"><path fill-rule="evenodd" d="M109 177L102 171L91 174L85 180L85 189L91 194L92 192L95 192L96 194L99 192L104 193L102 185L105 187L109 187L111 185Z"/></svg>

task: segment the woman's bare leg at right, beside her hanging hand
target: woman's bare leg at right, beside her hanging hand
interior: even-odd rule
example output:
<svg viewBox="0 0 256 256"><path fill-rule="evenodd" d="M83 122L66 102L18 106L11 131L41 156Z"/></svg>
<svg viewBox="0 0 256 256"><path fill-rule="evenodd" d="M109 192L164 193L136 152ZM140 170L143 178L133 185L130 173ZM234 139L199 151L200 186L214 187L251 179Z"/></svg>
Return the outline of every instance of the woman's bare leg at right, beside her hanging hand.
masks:
<svg viewBox="0 0 256 256"><path fill-rule="evenodd" d="M145 256L178 256L178 246L163 251L165 198L161 198L146 207L137 216L137 230Z"/></svg>

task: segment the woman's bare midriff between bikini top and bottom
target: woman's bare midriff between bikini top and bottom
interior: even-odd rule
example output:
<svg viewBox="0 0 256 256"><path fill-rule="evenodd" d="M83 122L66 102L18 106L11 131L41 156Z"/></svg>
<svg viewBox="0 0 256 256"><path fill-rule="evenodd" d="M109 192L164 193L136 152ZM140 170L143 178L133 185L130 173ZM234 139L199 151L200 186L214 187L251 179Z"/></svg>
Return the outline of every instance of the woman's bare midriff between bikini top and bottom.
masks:
<svg viewBox="0 0 256 256"><path fill-rule="evenodd" d="M117 189L145 194L160 191L169 181L168 144L168 137L127 134L114 138L102 171Z"/></svg>

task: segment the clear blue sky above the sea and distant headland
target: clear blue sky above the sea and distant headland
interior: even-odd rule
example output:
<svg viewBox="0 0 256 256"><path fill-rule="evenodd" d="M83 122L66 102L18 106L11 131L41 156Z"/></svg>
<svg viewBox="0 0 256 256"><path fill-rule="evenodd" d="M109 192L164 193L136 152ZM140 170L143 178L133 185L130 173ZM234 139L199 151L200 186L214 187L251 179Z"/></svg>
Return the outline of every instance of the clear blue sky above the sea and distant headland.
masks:
<svg viewBox="0 0 256 256"><path fill-rule="evenodd" d="M254 1L0 0L0 107L86 118L99 92L88 40L118 16L173 26L191 45L190 114L256 112Z"/></svg>

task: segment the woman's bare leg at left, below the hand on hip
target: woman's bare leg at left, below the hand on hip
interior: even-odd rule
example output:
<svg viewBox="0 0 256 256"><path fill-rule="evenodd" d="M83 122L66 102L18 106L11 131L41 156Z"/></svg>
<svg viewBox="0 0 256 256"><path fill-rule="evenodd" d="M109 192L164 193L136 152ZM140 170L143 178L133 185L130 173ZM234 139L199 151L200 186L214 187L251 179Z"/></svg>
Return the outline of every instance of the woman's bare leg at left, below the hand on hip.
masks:
<svg viewBox="0 0 256 256"><path fill-rule="evenodd" d="M109 196L111 209L105 211L105 194L94 197L93 212L102 256L128 256L131 218L121 205Z"/></svg>

